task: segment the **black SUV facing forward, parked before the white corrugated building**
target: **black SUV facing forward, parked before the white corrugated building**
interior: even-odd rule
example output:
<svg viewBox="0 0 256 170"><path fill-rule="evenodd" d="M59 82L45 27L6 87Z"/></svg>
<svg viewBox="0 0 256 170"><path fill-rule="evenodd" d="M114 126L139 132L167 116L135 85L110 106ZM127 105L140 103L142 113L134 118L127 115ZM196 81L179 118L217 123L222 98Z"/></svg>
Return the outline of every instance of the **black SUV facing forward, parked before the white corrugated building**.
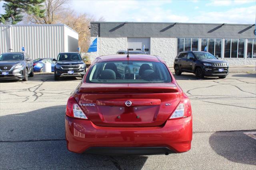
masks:
<svg viewBox="0 0 256 170"><path fill-rule="evenodd" d="M84 77L86 65L83 62L79 53L59 53L54 66L54 80L60 77Z"/></svg>

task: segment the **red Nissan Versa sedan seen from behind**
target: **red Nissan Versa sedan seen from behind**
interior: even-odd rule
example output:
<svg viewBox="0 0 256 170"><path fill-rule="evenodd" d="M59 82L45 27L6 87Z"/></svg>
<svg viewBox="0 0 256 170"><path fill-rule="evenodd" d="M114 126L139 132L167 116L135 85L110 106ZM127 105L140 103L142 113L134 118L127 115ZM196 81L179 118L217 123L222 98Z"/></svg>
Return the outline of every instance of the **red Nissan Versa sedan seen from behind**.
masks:
<svg viewBox="0 0 256 170"><path fill-rule="evenodd" d="M190 150L192 111L170 70L153 55L97 57L66 106L68 150L169 154Z"/></svg>

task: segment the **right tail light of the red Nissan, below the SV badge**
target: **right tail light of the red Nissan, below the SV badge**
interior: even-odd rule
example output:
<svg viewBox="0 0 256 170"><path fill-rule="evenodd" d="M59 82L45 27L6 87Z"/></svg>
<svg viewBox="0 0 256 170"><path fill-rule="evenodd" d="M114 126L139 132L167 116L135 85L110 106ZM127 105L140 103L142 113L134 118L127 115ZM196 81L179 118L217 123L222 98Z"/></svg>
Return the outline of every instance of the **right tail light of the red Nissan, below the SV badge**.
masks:
<svg viewBox="0 0 256 170"><path fill-rule="evenodd" d="M169 119L181 119L184 117L190 117L192 114L190 101L187 97L183 98L178 107L172 113Z"/></svg>

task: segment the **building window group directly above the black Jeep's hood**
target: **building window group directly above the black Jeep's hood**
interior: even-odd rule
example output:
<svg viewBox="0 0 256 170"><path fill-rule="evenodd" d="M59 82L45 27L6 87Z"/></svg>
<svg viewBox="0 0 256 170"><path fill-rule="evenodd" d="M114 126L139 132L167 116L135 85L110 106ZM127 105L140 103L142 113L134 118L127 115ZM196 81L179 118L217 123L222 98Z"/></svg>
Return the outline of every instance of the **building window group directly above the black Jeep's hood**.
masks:
<svg viewBox="0 0 256 170"><path fill-rule="evenodd" d="M201 51L208 51L212 55L218 55L221 57L221 38L202 38L201 39Z"/></svg>

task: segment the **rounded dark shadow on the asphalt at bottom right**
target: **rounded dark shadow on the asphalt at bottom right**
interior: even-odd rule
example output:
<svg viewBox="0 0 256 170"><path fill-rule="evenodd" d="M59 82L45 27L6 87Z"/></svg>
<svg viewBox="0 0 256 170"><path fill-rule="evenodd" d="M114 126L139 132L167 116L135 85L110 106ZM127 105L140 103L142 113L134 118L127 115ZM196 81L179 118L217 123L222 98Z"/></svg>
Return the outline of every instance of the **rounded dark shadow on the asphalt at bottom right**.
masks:
<svg viewBox="0 0 256 170"><path fill-rule="evenodd" d="M256 140L241 131L215 132L209 144L218 155L232 162L256 165Z"/></svg>

